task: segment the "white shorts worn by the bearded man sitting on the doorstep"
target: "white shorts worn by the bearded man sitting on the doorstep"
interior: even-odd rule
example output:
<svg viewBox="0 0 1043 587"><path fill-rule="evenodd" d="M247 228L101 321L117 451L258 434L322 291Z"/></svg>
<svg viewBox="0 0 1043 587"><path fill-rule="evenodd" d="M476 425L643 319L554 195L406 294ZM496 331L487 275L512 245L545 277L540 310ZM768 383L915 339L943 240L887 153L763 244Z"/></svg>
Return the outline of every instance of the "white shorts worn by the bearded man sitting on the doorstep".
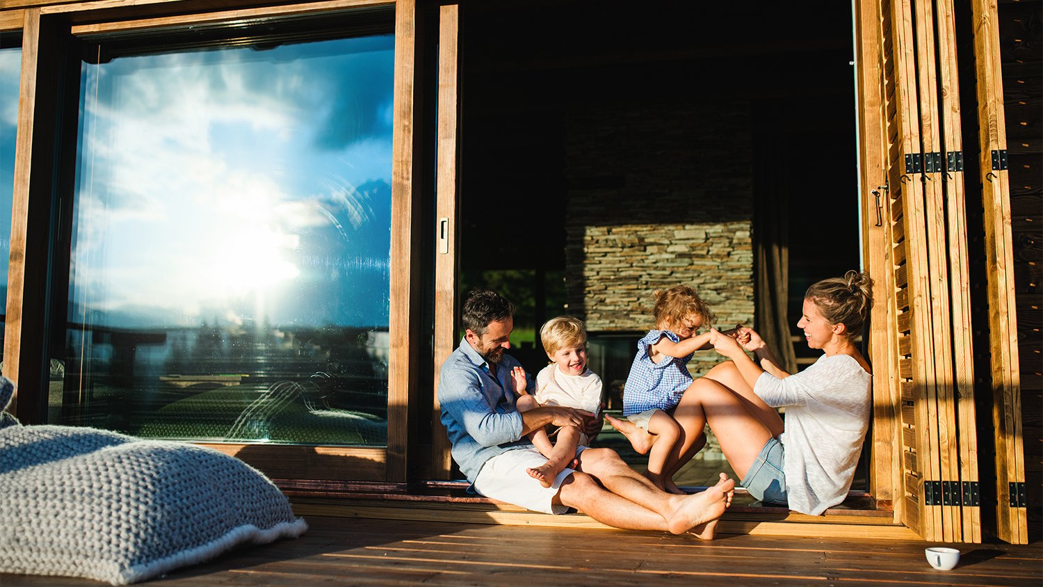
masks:
<svg viewBox="0 0 1043 587"><path fill-rule="evenodd" d="M576 455L579 456L585 449L586 446L577 446ZM545 462L547 457L536 447L508 450L482 465L482 470L478 471L478 476L475 479L475 490L486 497L514 504L534 512L563 514L568 508L560 504L555 505L554 496L561 490L561 483L576 470L567 467L561 469L551 487L543 487L538 480L530 476L526 469L539 467Z"/></svg>

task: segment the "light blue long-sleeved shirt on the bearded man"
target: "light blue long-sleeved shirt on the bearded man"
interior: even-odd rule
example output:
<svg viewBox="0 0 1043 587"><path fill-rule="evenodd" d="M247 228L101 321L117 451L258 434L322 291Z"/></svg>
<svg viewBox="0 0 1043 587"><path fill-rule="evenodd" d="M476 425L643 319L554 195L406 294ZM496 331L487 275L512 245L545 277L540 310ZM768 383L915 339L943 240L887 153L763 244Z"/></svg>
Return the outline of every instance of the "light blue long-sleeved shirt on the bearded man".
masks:
<svg viewBox="0 0 1043 587"><path fill-rule="evenodd" d="M504 354L496 372L467 339L442 364L438 384L441 421L453 443L453 460L474 483L489 459L513 448L532 446L522 436L522 414L514 407L511 369L520 364ZM529 382L529 389L533 384ZM505 389L506 388L506 389Z"/></svg>

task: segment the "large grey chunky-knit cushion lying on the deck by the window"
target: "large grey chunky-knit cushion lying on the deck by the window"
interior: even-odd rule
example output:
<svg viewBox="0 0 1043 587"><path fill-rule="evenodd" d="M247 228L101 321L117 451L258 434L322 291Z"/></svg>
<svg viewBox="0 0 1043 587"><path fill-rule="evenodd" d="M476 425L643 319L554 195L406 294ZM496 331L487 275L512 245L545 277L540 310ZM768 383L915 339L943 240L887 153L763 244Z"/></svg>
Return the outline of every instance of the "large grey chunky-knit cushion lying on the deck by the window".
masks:
<svg viewBox="0 0 1043 587"><path fill-rule="evenodd" d="M0 406L10 399L0 377ZM216 450L0 418L0 572L124 585L306 529L261 472Z"/></svg>

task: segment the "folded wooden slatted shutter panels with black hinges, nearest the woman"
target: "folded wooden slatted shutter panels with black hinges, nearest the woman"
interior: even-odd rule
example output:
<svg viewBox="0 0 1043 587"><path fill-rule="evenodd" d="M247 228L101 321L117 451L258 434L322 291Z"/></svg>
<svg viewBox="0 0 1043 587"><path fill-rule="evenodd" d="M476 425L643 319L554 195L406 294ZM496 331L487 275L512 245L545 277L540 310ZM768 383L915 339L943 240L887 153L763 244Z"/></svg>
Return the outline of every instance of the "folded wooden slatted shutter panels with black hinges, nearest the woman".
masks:
<svg viewBox="0 0 1043 587"><path fill-rule="evenodd" d="M900 520L931 540L980 541L966 218L948 8L881 3L893 288L889 349L900 398ZM966 502L965 491L967 488Z"/></svg>

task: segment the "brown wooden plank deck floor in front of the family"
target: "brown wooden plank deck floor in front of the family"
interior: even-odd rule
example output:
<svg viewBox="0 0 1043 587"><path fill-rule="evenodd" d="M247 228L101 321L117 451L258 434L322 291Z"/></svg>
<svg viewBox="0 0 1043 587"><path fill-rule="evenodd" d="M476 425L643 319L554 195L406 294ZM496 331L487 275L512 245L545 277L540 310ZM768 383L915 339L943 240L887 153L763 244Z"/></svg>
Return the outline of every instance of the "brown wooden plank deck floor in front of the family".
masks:
<svg viewBox="0 0 1043 587"><path fill-rule="evenodd" d="M241 548L149 584L312 585L1043 585L1043 546L955 544L935 570L908 540L687 536L587 528L309 516L298 539ZM101 585L0 574L2 587Z"/></svg>

